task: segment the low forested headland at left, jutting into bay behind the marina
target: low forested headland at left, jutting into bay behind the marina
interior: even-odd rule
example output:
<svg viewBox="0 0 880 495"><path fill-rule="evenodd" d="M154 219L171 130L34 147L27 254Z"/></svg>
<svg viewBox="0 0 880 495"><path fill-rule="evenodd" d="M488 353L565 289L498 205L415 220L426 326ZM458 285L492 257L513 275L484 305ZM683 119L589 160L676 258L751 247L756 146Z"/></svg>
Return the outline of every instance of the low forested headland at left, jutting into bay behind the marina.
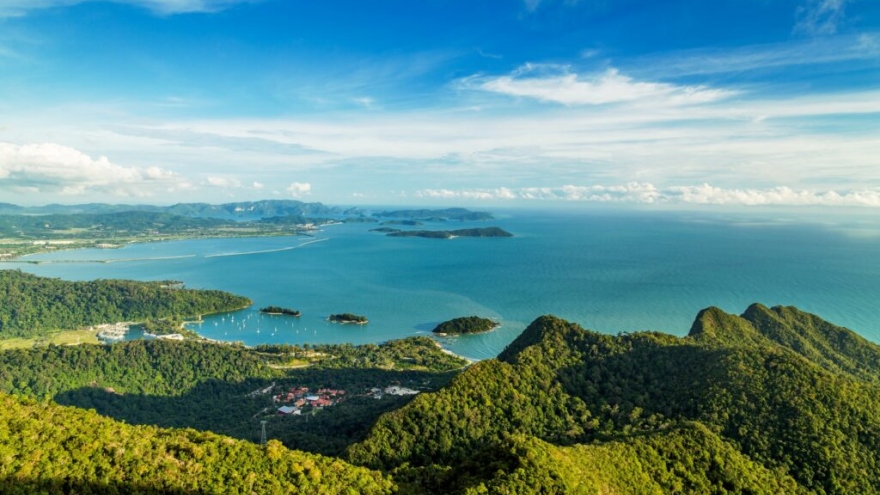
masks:
<svg viewBox="0 0 880 495"><path fill-rule="evenodd" d="M181 318L240 309L247 298L179 282L69 282L0 270L0 338L36 337L101 323Z"/></svg>

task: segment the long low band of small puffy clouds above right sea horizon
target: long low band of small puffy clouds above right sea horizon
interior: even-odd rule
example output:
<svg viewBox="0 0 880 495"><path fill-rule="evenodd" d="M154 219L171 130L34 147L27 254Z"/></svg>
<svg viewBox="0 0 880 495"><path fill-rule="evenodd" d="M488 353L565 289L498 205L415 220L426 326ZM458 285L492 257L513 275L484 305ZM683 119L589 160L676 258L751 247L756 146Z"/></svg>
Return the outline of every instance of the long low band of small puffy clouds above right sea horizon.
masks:
<svg viewBox="0 0 880 495"><path fill-rule="evenodd" d="M880 189L857 191L725 189L709 184L657 188L650 183L495 189L424 189L416 197L426 199L537 200L588 203L691 204L723 206L861 206L880 208Z"/></svg>

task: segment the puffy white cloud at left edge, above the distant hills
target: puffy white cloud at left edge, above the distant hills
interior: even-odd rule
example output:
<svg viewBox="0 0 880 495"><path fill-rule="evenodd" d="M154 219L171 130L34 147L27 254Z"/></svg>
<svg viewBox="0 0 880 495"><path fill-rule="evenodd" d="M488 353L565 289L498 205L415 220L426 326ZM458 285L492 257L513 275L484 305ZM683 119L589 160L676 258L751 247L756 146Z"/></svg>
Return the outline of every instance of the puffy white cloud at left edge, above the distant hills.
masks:
<svg viewBox="0 0 880 495"><path fill-rule="evenodd" d="M0 143L0 184L20 193L149 196L179 183L179 176L169 170L116 165L105 156L95 159L69 146Z"/></svg>

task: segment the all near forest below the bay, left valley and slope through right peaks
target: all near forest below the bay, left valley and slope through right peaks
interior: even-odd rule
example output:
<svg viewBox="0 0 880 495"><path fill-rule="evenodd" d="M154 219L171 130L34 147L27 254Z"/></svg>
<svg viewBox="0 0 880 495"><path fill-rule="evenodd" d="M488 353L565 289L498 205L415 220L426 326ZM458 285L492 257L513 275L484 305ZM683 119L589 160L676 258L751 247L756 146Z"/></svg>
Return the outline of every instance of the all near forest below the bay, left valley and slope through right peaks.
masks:
<svg viewBox="0 0 880 495"><path fill-rule="evenodd" d="M304 493L880 493L878 366L880 347L853 332L759 304L740 316L703 310L683 338L612 336L544 316L497 359L469 367L425 337L5 351L2 391L32 399L2 397L0 487L184 493L183 473L195 472L200 489L231 492L247 480L265 493L297 483ZM422 393L364 392L389 385ZM275 415L272 394L302 386L351 397ZM88 427L68 426L73 416ZM260 421L269 439L338 460L276 441L261 450ZM309 469L327 485L290 478ZM267 478L278 485L260 484Z"/></svg>

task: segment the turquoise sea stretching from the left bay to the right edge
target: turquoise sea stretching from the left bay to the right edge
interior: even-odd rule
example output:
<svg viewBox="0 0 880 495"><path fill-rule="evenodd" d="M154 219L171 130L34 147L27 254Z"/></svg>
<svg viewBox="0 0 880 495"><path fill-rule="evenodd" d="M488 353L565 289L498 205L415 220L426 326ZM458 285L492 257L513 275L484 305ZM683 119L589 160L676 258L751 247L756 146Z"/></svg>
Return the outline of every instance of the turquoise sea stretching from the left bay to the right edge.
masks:
<svg viewBox="0 0 880 495"><path fill-rule="evenodd" d="M71 280L182 280L254 300L194 327L218 340L382 342L430 334L476 314L495 332L441 339L461 355L495 356L532 320L554 314L617 333L683 335L707 306L740 313L752 302L794 305L880 341L880 222L819 222L674 212L501 212L506 239L393 238L375 224L329 226L315 238L214 239L66 251L29 257L72 262L7 265ZM318 242L315 242L318 241ZM148 259L150 258L150 259ZM95 263L88 260L111 260ZM300 318L261 315L266 305ZM325 321L366 315L364 326Z"/></svg>

